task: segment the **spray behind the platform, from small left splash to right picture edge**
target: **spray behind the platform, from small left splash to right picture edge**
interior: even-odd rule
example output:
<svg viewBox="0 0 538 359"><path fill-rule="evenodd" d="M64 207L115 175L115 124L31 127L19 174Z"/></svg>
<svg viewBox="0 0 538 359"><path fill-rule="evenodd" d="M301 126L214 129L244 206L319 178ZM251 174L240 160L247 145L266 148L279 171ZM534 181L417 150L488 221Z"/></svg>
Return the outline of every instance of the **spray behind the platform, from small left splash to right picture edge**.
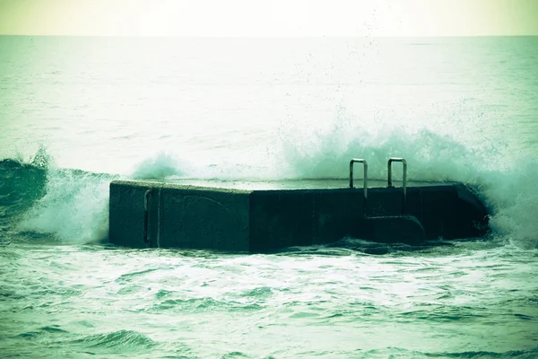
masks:
<svg viewBox="0 0 538 359"><path fill-rule="evenodd" d="M253 162L221 161L195 165L174 153L160 152L141 162L131 178L152 180L336 180L347 179L353 157L369 162L369 178L384 180L389 157L404 157L408 179L457 181L475 188L489 207L490 226L504 239L538 244L538 178L535 158L518 158L504 144L469 145L429 129L370 129L343 126L312 132L283 127L276 150ZM397 165L397 164L396 164ZM360 176L360 175L359 175ZM395 168L395 180L401 173Z"/></svg>

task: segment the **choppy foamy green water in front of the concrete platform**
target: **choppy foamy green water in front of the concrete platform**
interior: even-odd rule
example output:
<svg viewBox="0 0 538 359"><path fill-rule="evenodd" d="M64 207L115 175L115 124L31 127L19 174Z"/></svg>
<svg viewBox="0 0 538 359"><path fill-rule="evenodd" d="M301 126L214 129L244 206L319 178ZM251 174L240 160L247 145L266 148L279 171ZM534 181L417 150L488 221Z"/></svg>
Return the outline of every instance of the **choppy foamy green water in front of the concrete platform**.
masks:
<svg viewBox="0 0 538 359"><path fill-rule="evenodd" d="M480 242L239 256L24 245L2 257L4 355L538 355L535 250Z"/></svg>

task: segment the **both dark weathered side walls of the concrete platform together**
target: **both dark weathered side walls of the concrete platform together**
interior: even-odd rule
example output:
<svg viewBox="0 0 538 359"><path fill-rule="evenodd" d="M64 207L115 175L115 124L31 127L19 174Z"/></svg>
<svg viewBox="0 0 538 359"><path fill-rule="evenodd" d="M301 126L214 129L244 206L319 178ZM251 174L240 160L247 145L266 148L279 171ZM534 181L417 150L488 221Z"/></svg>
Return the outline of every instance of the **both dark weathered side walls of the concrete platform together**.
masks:
<svg viewBox="0 0 538 359"><path fill-rule="evenodd" d="M109 238L130 247L264 252L345 236L418 244L479 237L488 231L487 221L482 203L462 185L407 188L404 203L401 188L369 188L365 201L361 188L110 184Z"/></svg>

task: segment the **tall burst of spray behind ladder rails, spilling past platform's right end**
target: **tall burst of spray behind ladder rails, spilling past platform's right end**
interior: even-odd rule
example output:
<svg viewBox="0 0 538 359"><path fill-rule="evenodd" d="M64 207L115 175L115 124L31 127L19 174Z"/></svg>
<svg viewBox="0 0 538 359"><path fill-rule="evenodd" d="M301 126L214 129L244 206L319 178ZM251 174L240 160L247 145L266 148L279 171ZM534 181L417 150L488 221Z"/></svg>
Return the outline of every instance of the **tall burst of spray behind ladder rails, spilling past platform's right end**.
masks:
<svg viewBox="0 0 538 359"><path fill-rule="evenodd" d="M475 188L490 208L490 226L519 244L538 244L538 159L505 144L470 145L429 129L336 124L312 133L294 128L280 136L283 177L346 178L353 157L369 161L369 178L386 179L389 157L404 157L408 179L457 181ZM395 170L395 179L401 178Z"/></svg>

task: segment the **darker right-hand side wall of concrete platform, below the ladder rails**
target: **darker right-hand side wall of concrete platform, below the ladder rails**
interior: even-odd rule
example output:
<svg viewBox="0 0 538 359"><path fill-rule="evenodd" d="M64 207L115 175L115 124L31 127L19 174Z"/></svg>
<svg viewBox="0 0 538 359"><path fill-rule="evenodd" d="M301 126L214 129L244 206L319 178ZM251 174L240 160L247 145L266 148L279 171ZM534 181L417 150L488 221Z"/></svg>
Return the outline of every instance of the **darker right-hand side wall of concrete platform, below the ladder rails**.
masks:
<svg viewBox="0 0 538 359"><path fill-rule="evenodd" d="M383 239L371 221L363 221L365 216L402 215L418 220L421 236L410 239L416 231L393 231ZM422 239L475 237L485 232L485 208L464 186L408 188L405 203L402 188L369 188L366 201L361 188L265 190L254 191L250 197L252 251L330 243L345 236L416 243Z"/></svg>

